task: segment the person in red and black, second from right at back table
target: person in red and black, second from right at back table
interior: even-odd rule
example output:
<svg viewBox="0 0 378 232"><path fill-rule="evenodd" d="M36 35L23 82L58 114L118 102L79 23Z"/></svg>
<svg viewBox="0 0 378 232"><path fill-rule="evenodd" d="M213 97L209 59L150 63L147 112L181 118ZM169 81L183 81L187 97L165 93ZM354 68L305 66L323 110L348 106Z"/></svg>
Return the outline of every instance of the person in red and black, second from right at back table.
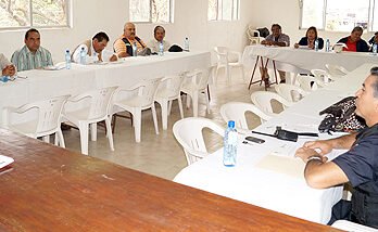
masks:
<svg viewBox="0 0 378 232"><path fill-rule="evenodd" d="M343 48L342 50L350 52L368 52L369 47L367 46L367 42L361 39L363 31L363 28L357 26L353 28L349 37L340 39L338 42L343 42L348 47Z"/></svg>

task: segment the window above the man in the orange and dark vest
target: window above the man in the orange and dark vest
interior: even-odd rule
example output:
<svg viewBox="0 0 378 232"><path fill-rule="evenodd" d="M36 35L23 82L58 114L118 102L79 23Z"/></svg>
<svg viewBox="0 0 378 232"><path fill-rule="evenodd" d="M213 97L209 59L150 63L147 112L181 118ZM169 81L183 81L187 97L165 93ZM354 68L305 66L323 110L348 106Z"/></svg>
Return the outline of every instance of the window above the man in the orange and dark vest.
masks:
<svg viewBox="0 0 378 232"><path fill-rule="evenodd" d="M130 0L130 22L172 22L172 1L173 0Z"/></svg>

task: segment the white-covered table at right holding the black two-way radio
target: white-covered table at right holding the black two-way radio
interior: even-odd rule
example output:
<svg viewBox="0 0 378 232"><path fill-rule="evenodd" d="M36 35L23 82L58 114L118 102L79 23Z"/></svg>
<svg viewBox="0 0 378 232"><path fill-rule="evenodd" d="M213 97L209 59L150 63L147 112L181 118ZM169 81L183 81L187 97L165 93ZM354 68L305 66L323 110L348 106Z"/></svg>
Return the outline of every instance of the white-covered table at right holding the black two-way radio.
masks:
<svg viewBox="0 0 378 232"><path fill-rule="evenodd" d="M313 92L254 131L272 134L276 126L281 126L292 131L317 132L317 127L324 118L318 113L361 88L373 66L375 64L365 64L345 78ZM338 88L339 86L349 88ZM264 139L265 143L242 144L241 141L247 136ZM320 134L319 139L338 136L341 134ZM331 207L341 198L342 186L316 190L306 184L303 177L304 163L293 156L297 149L308 140L314 138L300 137L297 143L292 143L255 133L244 134L239 138L236 167L223 165L223 149L220 149L184 168L174 181L310 221L327 223ZM343 152L335 150L328 157L331 160ZM274 157L286 158L279 159L282 162L281 167L278 165L278 169L285 170L259 165L272 154L276 155ZM272 164L272 166L277 165Z"/></svg>

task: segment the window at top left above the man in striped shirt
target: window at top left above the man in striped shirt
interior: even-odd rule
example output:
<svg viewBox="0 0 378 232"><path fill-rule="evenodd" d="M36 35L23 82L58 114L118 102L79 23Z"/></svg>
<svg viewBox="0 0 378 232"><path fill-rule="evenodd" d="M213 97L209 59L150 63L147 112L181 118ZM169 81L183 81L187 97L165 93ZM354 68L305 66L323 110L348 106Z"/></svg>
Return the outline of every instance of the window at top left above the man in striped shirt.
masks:
<svg viewBox="0 0 378 232"><path fill-rule="evenodd" d="M0 0L0 28L68 26L70 0Z"/></svg>

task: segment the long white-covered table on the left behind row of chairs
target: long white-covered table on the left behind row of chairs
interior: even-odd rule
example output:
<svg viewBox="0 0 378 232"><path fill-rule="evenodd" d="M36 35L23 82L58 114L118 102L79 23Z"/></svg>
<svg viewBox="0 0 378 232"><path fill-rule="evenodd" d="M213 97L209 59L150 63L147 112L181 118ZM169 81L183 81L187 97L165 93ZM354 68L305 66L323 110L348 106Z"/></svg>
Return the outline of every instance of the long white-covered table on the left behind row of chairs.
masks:
<svg viewBox="0 0 378 232"><path fill-rule="evenodd" d="M87 90L119 86L129 88L143 79L163 77L184 70L209 67L210 52L166 52L163 56L136 56L106 65L72 64L72 69L20 72L15 81L0 82L0 112L4 106L26 103L58 95L76 95ZM27 117L30 118L33 112ZM0 114L0 123L1 120ZM16 115L14 115L16 117ZM23 118L15 118L22 121Z"/></svg>

